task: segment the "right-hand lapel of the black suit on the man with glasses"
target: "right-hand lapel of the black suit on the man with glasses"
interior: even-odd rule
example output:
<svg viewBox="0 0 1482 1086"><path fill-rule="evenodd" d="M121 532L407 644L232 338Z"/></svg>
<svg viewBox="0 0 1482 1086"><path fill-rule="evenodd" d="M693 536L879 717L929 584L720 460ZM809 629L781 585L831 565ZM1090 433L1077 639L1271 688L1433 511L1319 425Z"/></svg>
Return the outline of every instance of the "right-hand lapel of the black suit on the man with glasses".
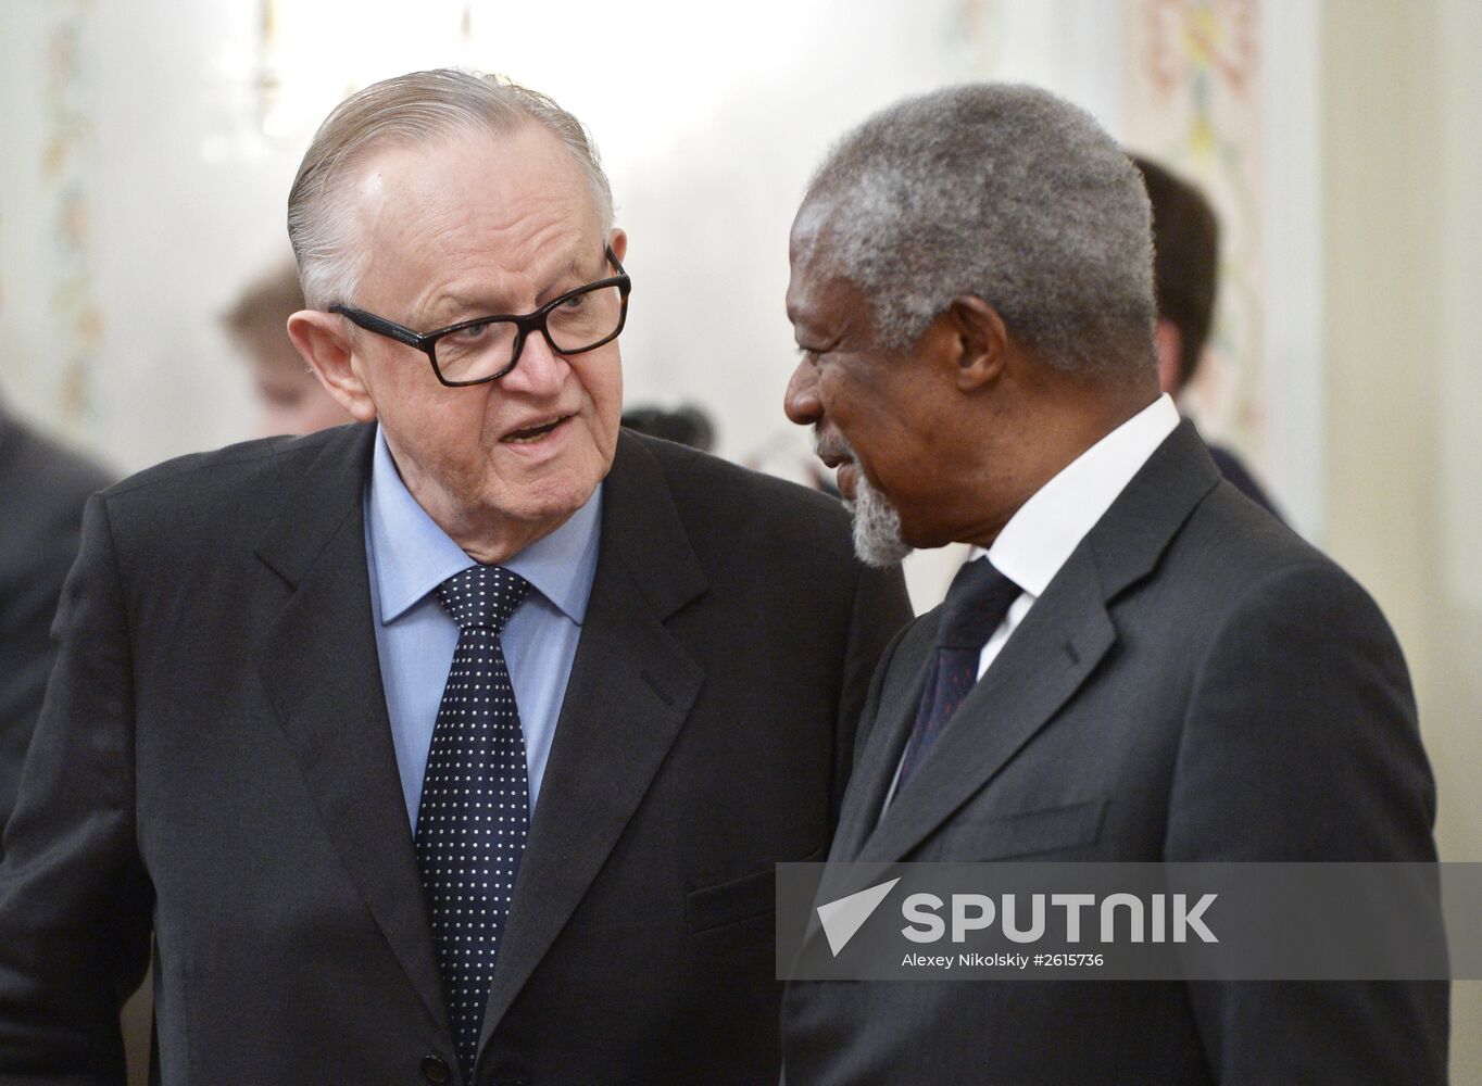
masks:
<svg viewBox="0 0 1482 1086"><path fill-rule="evenodd" d="M652 453L622 434L591 600L485 1010L488 1043L622 836L704 673L664 619L705 590Z"/></svg>

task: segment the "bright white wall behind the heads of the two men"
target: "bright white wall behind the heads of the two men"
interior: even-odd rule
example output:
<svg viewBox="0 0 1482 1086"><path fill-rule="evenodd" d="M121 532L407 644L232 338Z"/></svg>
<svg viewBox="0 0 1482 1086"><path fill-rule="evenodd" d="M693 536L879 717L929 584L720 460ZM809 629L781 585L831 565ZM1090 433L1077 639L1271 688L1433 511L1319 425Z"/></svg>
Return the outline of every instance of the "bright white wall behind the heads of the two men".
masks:
<svg viewBox="0 0 1482 1086"><path fill-rule="evenodd" d="M1116 124L1119 7L1097 0L568 0L274 4L289 84L264 135L258 3L7 0L0 9L0 388L122 470L252 434L253 406L216 324L286 252L283 206L313 126L348 86L415 67L504 71L596 133L630 234L628 403L692 400L719 452L800 479L806 436L781 413L796 362L782 316L787 230L830 141L873 110L968 77L1039 81ZM621 10L621 18L618 12ZM82 258L101 338L64 388L50 43L76 25L74 87L92 138ZM292 68L295 62L305 67ZM295 74L296 73L296 74ZM917 603L960 551L913 559Z"/></svg>

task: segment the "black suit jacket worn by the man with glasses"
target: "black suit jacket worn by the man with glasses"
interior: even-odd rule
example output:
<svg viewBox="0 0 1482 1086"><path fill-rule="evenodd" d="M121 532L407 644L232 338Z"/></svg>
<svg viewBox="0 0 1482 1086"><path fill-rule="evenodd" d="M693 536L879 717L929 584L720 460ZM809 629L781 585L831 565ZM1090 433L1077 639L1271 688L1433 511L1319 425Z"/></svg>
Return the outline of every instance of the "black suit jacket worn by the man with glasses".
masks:
<svg viewBox="0 0 1482 1086"><path fill-rule="evenodd" d="M166 1083L458 1080L370 627L370 437L89 507L0 868L0 1080L119 1080L151 927ZM710 456L624 434L606 486L479 1082L775 1082L772 865L824 855L904 587L836 502Z"/></svg>

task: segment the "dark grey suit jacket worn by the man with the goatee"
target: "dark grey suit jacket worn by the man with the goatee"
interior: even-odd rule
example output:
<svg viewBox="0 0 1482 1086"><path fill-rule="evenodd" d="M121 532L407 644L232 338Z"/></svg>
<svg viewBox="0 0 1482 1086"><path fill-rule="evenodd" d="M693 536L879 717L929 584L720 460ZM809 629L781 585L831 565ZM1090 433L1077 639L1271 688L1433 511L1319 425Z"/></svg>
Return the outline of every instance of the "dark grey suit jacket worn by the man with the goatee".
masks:
<svg viewBox="0 0 1482 1086"><path fill-rule="evenodd" d="M937 612L886 650L839 861L1430 861L1435 790L1369 597L1183 424L876 824ZM833 895L828 895L833 896ZM790 1086L1436 1083L1443 984L794 982Z"/></svg>

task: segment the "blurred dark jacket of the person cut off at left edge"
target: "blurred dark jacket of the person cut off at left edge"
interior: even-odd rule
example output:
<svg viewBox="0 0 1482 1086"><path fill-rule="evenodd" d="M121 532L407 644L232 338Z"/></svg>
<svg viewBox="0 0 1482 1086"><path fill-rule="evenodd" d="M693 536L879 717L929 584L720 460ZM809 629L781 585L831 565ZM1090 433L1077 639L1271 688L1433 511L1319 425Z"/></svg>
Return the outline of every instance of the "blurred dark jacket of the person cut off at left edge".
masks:
<svg viewBox="0 0 1482 1086"><path fill-rule="evenodd" d="M56 658L52 618L77 557L83 504L111 482L0 409L0 831Z"/></svg>

